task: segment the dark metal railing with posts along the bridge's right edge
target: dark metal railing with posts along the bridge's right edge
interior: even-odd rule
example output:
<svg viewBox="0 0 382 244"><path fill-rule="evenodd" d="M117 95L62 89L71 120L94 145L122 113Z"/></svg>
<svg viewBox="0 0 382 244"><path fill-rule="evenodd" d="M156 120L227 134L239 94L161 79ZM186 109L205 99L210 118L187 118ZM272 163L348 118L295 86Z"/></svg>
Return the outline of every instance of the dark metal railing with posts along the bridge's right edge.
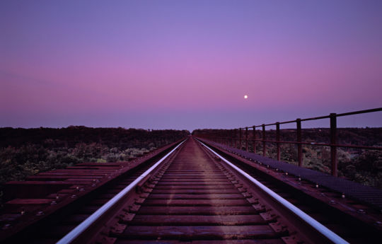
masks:
<svg viewBox="0 0 382 244"><path fill-rule="evenodd" d="M371 150L382 150L381 146L359 146L359 145L351 145L351 144L338 144L337 141L337 117L349 116L349 115L359 115L369 112L381 112L382 108L374 108L369 110L359 110L354 112L345 112L341 114L331 113L330 115L320 116L320 117L310 117L306 119L296 119L289 120L284 122L275 122L272 124L260 124L253 125L250 127L242 127L237 129L228 129L228 130L220 130L220 132L216 132L213 134L199 134L197 136L203 137L205 139L209 139L220 144L226 144L227 146L235 147L242 149L243 142L245 143L245 151L248 151L248 144L250 141L253 143L253 153L256 152L256 144L262 144L262 156L266 156L267 154L267 143L276 144L277 150L277 161L280 161L281 158L281 144L295 144L297 145L297 157L299 166L303 166L303 153L302 146L303 145L311 145L311 146L330 146L330 161L331 161L331 173L332 175L337 176L337 148L352 148L352 149L371 149ZM330 143L313 143L308 141L302 141L301 136L301 122L311 121L311 120L323 120L330 119ZM296 123L296 141L280 141L280 124L291 124ZM276 126L276 140L267 139L266 135L266 127ZM262 137L257 139L256 136L256 128L261 127L262 129ZM248 138L248 130L252 129L253 138ZM244 131L244 133L243 133ZM231 135L229 135L231 134ZM238 136L237 136L238 135Z"/></svg>

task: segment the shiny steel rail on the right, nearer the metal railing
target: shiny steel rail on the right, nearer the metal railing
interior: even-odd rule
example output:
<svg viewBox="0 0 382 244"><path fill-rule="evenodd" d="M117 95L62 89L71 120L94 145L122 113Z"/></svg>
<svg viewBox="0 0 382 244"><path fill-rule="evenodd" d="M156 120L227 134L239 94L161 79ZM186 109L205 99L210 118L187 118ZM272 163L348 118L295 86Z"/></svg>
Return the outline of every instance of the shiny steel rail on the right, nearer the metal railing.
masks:
<svg viewBox="0 0 382 244"><path fill-rule="evenodd" d="M197 139L197 141L199 141L199 140ZM280 197L279 194L273 192L272 190L270 190L270 188L266 187L265 185L262 185L261 182L259 182L258 180L255 180L255 178L253 178L252 176L248 175L248 173L245 173L243 170L241 170L241 168L238 168L236 165L233 165L233 163L231 163L230 161L226 160L226 158L220 156L219 153L216 153L214 150L210 149L209 146L207 146L206 144L202 143L202 141L199 141L199 142L203 146L205 146L207 149L209 149L209 151L212 151L212 153L214 153L216 156L221 158L222 161L224 161L225 163L230 165L232 168L234 168L236 171L238 171L238 173L241 173L241 175L243 175L245 178L247 178L248 180L253 182L255 185L257 185L257 187L259 187L262 191L264 191L267 194L269 194L273 199L275 199L277 202L279 202L279 204L282 204L284 207L289 209L289 211L291 211L294 214L296 214L296 216L299 216L299 218L302 219L305 223L308 223L309 226L314 228L316 231L320 232L323 236L325 236L326 238L331 240L333 243L336 243L336 244L345 244L345 243L348 243L346 240L342 239L336 233L330 231L330 229L326 228L321 223L316 221L316 219L313 219L311 216L308 216L308 214L306 214L303 211L301 211L301 209L299 209L298 207L294 206L294 204L291 204L290 202L288 202L283 197Z"/></svg>

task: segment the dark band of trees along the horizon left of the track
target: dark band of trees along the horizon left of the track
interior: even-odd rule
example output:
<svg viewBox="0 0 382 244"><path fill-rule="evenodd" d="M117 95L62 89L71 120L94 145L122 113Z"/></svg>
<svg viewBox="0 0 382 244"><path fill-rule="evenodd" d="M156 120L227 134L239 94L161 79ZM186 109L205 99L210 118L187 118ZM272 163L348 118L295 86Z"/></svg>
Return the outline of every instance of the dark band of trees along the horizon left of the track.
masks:
<svg viewBox="0 0 382 244"><path fill-rule="evenodd" d="M109 148L128 149L132 147L145 147L153 143L154 146L163 146L189 134L188 131L173 129L146 130L124 128L91 128L83 126L70 126L61 129L35 128L13 129L0 128L0 148L7 146L23 146L37 144L45 148L71 148L78 143L98 143Z"/></svg>

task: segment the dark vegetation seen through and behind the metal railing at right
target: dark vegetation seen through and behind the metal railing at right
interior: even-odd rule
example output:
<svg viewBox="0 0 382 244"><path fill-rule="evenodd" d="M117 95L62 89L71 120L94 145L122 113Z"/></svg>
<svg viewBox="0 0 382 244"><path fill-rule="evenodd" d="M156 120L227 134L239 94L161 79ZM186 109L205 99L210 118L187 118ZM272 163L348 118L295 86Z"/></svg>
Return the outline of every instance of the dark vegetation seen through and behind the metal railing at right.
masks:
<svg viewBox="0 0 382 244"><path fill-rule="evenodd" d="M214 135L236 138L240 136L238 132L224 129L198 129L192 132L197 136ZM339 128L338 143L356 146L382 146L382 128ZM267 140L276 140L276 131L266 131ZM245 139L245 131L242 131L242 138ZM262 138L262 132L256 131L256 138ZM248 140L253 139L253 131L248 131ZM281 141L296 141L296 129L281 129ZM309 143L330 143L330 129L315 128L302 129L302 141ZM236 142L236 146L238 146ZM274 143L267 143L267 156L277 158L277 148ZM245 141L241 148L245 150ZM294 144L282 144L281 161L297 163L297 146ZM253 142L249 141L248 149L253 151ZM256 143L256 151L262 152L262 143ZM303 145L303 167L318 170L323 173L330 173L330 147ZM382 189L382 151L369 149L337 148L338 175L348 178L364 185L378 187Z"/></svg>

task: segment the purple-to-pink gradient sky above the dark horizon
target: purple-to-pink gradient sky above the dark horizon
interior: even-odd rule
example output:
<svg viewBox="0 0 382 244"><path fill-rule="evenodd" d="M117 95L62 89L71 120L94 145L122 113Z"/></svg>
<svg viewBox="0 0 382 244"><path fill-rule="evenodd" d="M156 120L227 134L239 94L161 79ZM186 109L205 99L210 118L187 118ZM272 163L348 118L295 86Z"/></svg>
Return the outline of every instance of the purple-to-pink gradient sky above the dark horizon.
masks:
<svg viewBox="0 0 382 244"><path fill-rule="evenodd" d="M379 0L2 0L0 127L192 130L378 108L381 43Z"/></svg>

